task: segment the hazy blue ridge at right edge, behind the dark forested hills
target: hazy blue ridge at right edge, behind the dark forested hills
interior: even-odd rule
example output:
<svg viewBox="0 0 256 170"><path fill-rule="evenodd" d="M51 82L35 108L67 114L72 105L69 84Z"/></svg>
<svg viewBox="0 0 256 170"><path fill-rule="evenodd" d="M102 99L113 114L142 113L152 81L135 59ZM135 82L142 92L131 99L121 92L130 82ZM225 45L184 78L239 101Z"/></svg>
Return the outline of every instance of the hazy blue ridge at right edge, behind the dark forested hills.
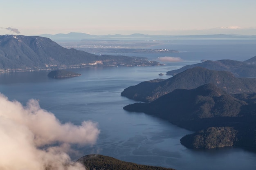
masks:
<svg viewBox="0 0 256 170"><path fill-rule="evenodd" d="M244 62L234 60L207 60L202 63L187 65L177 70L166 72L167 75L176 75L188 68L196 66L204 67L211 70L230 71L237 77L256 77L256 56Z"/></svg>

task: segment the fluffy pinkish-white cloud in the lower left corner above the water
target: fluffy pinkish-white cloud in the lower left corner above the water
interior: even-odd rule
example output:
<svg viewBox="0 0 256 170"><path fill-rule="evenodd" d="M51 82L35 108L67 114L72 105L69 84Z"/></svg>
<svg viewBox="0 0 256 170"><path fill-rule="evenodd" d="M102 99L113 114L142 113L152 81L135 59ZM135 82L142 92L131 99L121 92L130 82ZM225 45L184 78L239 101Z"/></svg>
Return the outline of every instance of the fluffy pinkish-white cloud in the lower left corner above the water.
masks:
<svg viewBox="0 0 256 170"><path fill-rule="evenodd" d="M84 170L71 161L70 145L94 144L98 135L92 121L61 124L36 100L23 106L0 94L1 170Z"/></svg>

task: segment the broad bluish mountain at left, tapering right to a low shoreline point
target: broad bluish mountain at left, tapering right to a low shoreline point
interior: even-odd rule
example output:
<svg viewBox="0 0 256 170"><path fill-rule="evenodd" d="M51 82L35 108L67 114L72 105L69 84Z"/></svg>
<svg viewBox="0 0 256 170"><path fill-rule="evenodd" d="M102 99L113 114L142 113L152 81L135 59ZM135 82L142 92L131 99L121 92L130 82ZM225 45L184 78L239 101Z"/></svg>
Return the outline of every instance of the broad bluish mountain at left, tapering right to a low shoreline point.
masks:
<svg viewBox="0 0 256 170"><path fill-rule="evenodd" d="M66 49L49 38L39 36L0 35L0 72L119 65L160 64L145 57L99 56Z"/></svg>

